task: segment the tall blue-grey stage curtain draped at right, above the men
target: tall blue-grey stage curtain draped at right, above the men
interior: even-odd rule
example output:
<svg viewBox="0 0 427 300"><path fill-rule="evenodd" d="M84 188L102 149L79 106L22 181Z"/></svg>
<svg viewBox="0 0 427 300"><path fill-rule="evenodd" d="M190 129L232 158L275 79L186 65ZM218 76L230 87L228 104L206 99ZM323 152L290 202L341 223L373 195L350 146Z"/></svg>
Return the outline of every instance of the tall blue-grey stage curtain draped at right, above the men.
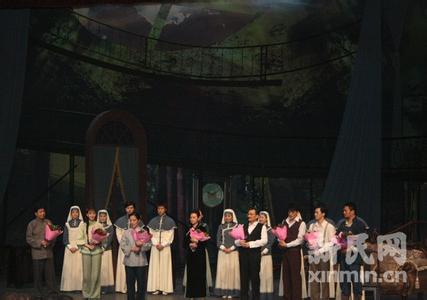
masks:
<svg viewBox="0 0 427 300"><path fill-rule="evenodd" d="M345 202L379 228L381 209L381 1L366 1L359 49L322 200L341 218Z"/></svg>

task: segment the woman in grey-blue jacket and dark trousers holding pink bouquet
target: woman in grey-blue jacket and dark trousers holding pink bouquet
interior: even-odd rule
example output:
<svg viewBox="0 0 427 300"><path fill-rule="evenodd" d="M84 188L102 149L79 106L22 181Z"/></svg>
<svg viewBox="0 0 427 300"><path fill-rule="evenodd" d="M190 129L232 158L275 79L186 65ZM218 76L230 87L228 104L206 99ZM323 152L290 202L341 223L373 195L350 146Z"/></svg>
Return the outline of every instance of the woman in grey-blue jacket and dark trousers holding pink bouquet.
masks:
<svg viewBox="0 0 427 300"><path fill-rule="evenodd" d="M136 233L143 232L140 227L141 217L136 212L129 215L129 228L123 233L120 248L123 251L123 264L126 272L127 299L144 300L147 290L148 260L145 252L151 249L151 242L135 239ZM137 294L135 298L135 281Z"/></svg>

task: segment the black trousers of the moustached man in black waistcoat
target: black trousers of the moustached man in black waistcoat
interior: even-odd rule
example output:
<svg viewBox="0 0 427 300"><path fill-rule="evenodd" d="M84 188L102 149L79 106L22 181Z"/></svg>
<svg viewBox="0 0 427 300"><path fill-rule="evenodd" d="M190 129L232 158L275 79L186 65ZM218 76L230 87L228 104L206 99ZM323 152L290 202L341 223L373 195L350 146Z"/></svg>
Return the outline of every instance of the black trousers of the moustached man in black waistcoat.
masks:
<svg viewBox="0 0 427 300"><path fill-rule="evenodd" d="M240 299L249 298L249 282L252 287L252 300L260 298L260 278L259 271L261 268L261 251L259 248L240 249Z"/></svg>

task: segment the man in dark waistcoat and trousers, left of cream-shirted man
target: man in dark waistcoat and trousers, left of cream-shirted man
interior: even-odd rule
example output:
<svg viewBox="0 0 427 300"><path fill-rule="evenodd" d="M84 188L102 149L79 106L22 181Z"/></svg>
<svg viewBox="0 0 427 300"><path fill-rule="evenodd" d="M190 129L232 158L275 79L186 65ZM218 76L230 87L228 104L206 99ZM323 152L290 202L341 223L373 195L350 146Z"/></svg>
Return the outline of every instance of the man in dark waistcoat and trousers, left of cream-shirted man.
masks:
<svg viewBox="0 0 427 300"><path fill-rule="evenodd" d="M288 228L286 239L279 241L279 247L284 250L282 264L283 297L285 300L300 300L303 291L302 275L304 275L304 270L301 270L301 245L304 242L306 225L296 205L289 205L288 217L282 224Z"/></svg>

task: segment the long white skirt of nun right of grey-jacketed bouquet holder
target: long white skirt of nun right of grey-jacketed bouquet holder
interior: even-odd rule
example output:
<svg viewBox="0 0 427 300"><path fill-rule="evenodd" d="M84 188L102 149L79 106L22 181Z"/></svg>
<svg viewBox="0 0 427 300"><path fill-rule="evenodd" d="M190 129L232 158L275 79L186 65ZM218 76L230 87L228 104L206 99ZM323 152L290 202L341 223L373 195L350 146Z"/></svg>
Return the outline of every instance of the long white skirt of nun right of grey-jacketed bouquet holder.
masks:
<svg viewBox="0 0 427 300"><path fill-rule="evenodd" d="M173 293L171 248L159 251L151 247L150 263L148 264L147 292L162 291Z"/></svg>

